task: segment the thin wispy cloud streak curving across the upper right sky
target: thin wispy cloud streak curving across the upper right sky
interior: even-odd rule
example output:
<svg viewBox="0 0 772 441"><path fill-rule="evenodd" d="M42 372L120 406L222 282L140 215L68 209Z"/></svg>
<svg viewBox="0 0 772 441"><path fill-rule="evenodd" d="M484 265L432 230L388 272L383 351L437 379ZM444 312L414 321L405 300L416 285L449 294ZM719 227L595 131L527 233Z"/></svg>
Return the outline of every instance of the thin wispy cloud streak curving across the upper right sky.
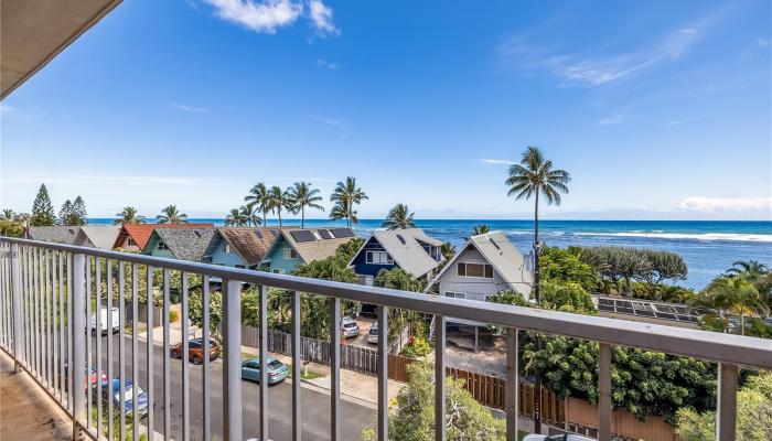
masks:
<svg viewBox="0 0 772 441"><path fill-rule="evenodd" d="M534 46L515 37L500 45L505 65L521 71L546 69L559 78L561 86L596 87L630 77L667 61L674 61L695 44L723 11L708 15L693 26L662 35L658 40L629 52L608 55L566 53Z"/></svg>

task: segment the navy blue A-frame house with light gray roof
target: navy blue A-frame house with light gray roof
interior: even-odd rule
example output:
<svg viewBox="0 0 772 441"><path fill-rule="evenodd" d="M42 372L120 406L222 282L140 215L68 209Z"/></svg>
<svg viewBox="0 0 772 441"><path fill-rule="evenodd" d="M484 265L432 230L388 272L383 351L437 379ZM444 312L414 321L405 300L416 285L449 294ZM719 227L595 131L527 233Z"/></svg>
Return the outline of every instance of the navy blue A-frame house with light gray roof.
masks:
<svg viewBox="0 0 772 441"><path fill-rule="evenodd" d="M350 266L360 284L373 286L380 270L393 268L429 280L442 261L441 247L441 240L429 237L420 228L376 229Z"/></svg>

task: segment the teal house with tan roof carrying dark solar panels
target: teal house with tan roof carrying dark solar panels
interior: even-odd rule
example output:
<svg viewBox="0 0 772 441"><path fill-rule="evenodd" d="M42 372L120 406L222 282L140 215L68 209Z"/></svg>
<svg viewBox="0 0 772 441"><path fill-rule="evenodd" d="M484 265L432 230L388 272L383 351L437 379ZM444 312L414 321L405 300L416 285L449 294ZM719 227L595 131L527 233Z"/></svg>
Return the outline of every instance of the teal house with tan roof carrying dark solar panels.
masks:
<svg viewBox="0 0 772 441"><path fill-rule="evenodd" d="M351 228L281 230L260 267L270 272L291 273L298 265L333 256L337 247L355 237Z"/></svg>

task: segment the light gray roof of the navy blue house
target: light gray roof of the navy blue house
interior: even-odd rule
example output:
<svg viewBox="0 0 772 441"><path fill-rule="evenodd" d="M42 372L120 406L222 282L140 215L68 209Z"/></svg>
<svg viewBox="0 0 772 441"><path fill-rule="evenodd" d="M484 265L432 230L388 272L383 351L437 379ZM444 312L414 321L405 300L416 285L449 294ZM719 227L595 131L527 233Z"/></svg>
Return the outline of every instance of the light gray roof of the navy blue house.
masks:
<svg viewBox="0 0 772 441"><path fill-rule="evenodd" d="M416 278L426 275L440 265L426 252L421 243L439 247L442 246L442 240L427 236L420 228L376 229L373 232L373 237L392 256L399 268Z"/></svg>

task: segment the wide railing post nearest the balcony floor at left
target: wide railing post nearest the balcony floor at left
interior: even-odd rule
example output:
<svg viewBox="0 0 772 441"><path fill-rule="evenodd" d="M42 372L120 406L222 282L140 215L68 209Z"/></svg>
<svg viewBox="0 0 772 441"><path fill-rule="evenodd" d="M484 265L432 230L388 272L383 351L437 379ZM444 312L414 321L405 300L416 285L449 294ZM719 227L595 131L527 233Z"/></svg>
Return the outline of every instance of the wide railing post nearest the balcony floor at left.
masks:
<svg viewBox="0 0 772 441"><path fill-rule="evenodd" d="M85 293L86 256L73 255L73 292L68 301L73 302L73 322L69 324L69 333L73 341L73 358L67 366L68 375L73 378L71 392L73 394L73 440L81 439L81 421L86 419L86 389L82 387L86 375L86 308Z"/></svg>

